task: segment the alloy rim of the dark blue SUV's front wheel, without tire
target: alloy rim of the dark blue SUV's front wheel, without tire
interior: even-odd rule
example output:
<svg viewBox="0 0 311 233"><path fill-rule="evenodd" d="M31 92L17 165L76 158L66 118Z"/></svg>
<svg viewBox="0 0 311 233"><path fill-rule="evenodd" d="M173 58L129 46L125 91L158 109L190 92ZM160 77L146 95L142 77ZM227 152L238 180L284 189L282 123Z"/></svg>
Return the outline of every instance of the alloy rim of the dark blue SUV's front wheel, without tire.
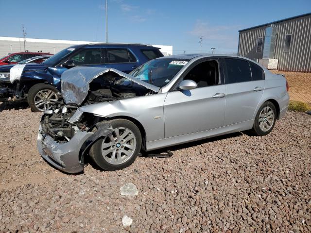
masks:
<svg viewBox="0 0 311 233"><path fill-rule="evenodd" d="M41 112L49 109L57 100L57 94L50 89L40 90L34 98L35 107Z"/></svg>

